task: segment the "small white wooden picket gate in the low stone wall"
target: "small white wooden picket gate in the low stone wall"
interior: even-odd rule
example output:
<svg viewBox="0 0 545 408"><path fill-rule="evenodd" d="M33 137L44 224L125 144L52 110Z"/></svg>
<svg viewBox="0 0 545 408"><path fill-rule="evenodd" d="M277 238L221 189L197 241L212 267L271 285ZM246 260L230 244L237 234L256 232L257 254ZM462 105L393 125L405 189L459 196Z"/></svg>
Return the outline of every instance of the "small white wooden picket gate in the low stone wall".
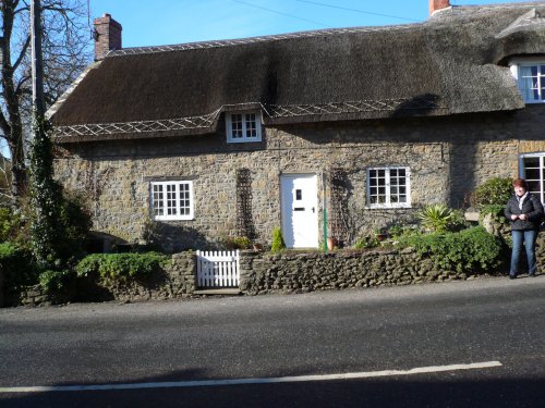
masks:
<svg viewBox="0 0 545 408"><path fill-rule="evenodd" d="M198 287L239 287L239 250L197 250Z"/></svg>

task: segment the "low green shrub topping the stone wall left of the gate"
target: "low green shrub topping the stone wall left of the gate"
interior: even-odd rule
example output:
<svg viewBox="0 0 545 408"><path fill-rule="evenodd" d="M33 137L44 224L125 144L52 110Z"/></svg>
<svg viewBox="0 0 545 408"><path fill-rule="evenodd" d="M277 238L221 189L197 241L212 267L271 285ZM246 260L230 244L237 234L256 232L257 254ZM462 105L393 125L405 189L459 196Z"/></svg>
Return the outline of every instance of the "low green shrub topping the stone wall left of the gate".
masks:
<svg viewBox="0 0 545 408"><path fill-rule="evenodd" d="M92 276L104 282L125 282L145 279L161 270L170 257L158 252L93 254L75 267L77 276Z"/></svg>

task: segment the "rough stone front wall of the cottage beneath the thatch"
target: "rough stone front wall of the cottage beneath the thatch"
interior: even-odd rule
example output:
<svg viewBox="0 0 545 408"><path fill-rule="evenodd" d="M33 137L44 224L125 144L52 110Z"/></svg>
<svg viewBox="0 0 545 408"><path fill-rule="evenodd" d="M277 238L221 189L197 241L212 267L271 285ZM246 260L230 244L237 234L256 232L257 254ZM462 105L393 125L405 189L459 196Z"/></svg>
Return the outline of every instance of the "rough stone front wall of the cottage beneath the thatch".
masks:
<svg viewBox="0 0 545 408"><path fill-rule="evenodd" d="M262 143L233 145L227 144L220 121L211 135L65 145L56 176L88 194L94 230L129 243L153 231L164 249L180 251L214 248L221 237L240 234L237 170L250 170L251 219L257 240L270 244L281 223L280 175L341 168L351 244L374 227L411 220L420 206L458 208L487 178L517 176L521 152L545 151L544 110L529 106L496 114L284 125L264 128ZM389 165L410 168L409 209L366 206L366 170ZM150 222L149 182L172 177L193 181L194 220Z"/></svg>

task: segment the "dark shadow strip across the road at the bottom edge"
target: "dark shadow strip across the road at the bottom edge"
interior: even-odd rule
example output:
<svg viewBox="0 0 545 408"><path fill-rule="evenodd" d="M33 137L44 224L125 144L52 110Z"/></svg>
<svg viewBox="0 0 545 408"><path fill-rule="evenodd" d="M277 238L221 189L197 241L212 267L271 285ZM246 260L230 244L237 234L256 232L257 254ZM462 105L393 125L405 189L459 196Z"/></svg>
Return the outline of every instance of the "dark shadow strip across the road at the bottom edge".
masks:
<svg viewBox="0 0 545 408"><path fill-rule="evenodd" d="M187 378L189 372L180 372ZM196 374L193 378L199 378ZM487 372L494 375L493 371ZM172 381L149 378L141 382ZM545 379L441 380L388 378L134 391L0 394L8 407L541 407ZM450 375L449 380L444 380Z"/></svg>

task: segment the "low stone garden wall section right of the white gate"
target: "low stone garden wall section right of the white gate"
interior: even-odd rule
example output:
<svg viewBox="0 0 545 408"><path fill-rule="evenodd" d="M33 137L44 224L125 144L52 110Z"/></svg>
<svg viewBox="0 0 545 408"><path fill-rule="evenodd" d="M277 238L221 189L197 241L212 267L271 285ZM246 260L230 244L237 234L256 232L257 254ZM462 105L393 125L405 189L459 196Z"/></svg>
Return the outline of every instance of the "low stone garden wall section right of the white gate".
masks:
<svg viewBox="0 0 545 408"><path fill-rule="evenodd" d="M249 295L411 285L475 276L438 270L431 259L421 259L412 249L243 257L241 290Z"/></svg>

